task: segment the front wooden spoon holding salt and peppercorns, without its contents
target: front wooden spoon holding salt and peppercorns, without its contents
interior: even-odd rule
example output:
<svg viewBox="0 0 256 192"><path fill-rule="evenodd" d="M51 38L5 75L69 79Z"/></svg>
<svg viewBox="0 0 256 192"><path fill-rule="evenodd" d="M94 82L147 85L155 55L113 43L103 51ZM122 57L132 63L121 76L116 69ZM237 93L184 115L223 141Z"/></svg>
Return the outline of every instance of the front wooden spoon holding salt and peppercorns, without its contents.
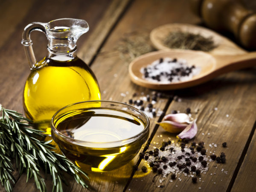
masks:
<svg viewBox="0 0 256 192"><path fill-rule="evenodd" d="M170 82L169 84L143 79L143 74L140 72L142 67L146 67L153 61L166 57L186 59L189 65L201 67L201 72L189 81ZM252 66L256 66L256 52L241 55L213 55L201 51L174 49L171 51L160 50L141 55L130 63L129 74L131 81L140 86L156 90L173 90L192 87L209 81L223 73Z"/></svg>

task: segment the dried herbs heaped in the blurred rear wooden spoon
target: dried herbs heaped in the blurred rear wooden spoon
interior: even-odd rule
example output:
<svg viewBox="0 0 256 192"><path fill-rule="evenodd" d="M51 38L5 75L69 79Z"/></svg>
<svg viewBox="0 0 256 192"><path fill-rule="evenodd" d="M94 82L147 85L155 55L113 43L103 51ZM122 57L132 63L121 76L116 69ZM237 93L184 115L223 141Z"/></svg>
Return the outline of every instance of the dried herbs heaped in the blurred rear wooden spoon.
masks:
<svg viewBox="0 0 256 192"><path fill-rule="evenodd" d="M162 41L163 44L172 49L211 51L217 47L212 37L205 38L199 33L194 34L181 31L170 32Z"/></svg>

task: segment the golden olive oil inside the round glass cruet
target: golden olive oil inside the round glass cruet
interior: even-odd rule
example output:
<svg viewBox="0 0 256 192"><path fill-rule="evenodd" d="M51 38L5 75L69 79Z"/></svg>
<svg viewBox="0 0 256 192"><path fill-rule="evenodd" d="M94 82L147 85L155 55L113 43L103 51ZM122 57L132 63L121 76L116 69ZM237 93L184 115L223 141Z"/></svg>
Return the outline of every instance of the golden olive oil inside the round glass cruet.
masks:
<svg viewBox="0 0 256 192"><path fill-rule="evenodd" d="M95 76L81 59L44 58L35 64L26 81L23 107L35 128L51 134L50 120L55 112L87 100L100 100L100 91Z"/></svg>

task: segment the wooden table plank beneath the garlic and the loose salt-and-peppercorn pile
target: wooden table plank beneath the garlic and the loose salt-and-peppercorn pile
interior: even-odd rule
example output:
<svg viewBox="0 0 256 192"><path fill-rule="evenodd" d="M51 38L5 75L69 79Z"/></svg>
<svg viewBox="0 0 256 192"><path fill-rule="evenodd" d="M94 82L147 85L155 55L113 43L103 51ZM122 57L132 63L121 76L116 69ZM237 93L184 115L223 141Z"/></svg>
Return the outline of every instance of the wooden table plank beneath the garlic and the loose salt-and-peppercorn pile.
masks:
<svg viewBox="0 0 256 192"><path fill-rule="evenodd" d="M191 108L192 116L198 118L198 134L192 141L197 143L204 141L205 148L208 150L207 155L210 151L217 156L225 152L227 159L225 164L209 162L209 171L205 175L201 174L201 181L198 180L198 183L193 184L191 177L183 174L178 175L181 181L176 179L170 182L171 175L166 178L157 175L154 178L156 174L151 172L151 168L148 168L147 174L141 176L141 167L147 166L143 160L127 189L131 191L226 191L256 120L253 113L256 98L251 97L256 91L254 74L255 70L233 72L203 85L179 91L177 94L182 101L173 101L168 110L168 113L172 110L185 112L186 108ZM199 109L198 114L194 112L197 109ZM160 127L150 148L160 147L163 140L174 140L176 143L175 136ZM227 148L221 146L223 142L227 142ZM217 144L217 147L209 147L212 143ZM249 167L251 166L248 165L248 169ZM241 177L244 177L244 174L246 173L242 172ZM139 178L137 178L138 175L140 175Z"/></svg>

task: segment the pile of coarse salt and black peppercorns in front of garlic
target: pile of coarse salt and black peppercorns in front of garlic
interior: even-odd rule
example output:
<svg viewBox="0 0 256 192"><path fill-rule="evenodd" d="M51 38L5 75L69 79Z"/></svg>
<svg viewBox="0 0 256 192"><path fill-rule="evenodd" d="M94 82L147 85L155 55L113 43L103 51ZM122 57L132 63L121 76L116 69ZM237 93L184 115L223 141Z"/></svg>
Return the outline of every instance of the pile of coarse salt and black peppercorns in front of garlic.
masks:
<svg viewBox="0 0 256 192"><path fill-rule="evenodd" d="M153 172L163 174L163 177L171 174L171 178L174 180L177 174L183 173L185 176L192 177L192 182L197 182L196 175L200 175L202 172L208 171L208 162L216 160L216 163L225 163L226 155L221 152L220 157L216 157L215 154L211 154L210 158L207 157L207 150L204 148L204 142L191 143L191 146L186 146L188 140L183 140L180 145L169 141L164 141L160 148L154 148L153 150L141 152L140 157L147 160L149 166ZM223 147L227 146L227 143L222 144ZM143 172L147 172L146 166L142 168Z"/></svg>

